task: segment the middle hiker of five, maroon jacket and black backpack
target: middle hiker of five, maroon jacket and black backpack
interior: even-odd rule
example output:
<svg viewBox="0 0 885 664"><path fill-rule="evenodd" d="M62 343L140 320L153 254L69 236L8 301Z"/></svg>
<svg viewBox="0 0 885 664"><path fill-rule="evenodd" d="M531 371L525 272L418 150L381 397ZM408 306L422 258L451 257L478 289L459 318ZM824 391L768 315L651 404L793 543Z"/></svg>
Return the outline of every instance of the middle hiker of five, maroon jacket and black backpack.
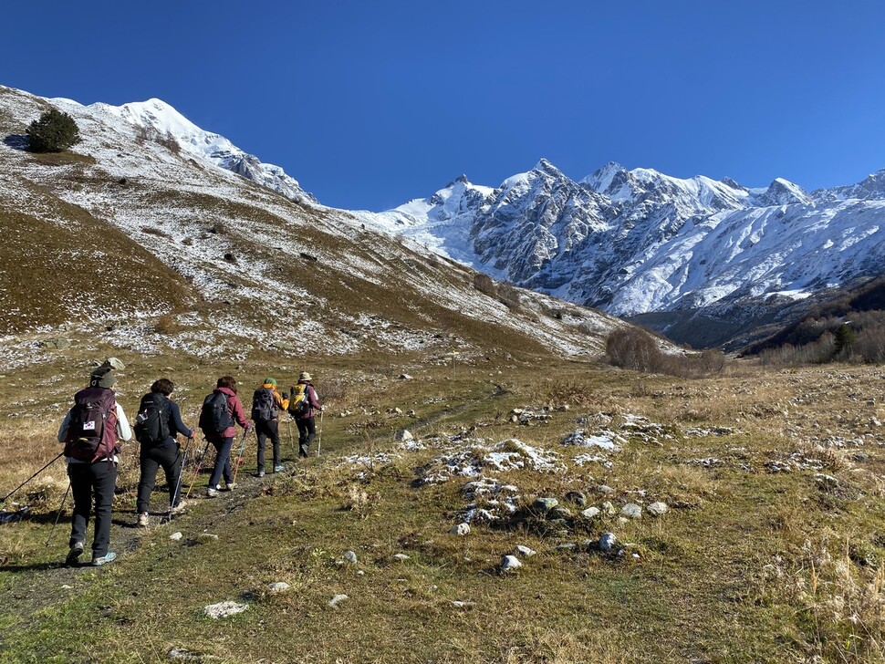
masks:
<svg viewBox="0 0 885 664"><path fill-rule="evenodd" d="M200 428L203 429L206 440L215 448L215 465L209 476L207 498L214 498L221 491L218 482L223 476L226 491L234 491L236 487L231 473L231 448L234 447L236 434L234 423L245 431L249 431L252 426L245 419L243 404L236 396L236 380L232 376L222 376L213 393L203 401L203 411L200 414Z"/></svg>

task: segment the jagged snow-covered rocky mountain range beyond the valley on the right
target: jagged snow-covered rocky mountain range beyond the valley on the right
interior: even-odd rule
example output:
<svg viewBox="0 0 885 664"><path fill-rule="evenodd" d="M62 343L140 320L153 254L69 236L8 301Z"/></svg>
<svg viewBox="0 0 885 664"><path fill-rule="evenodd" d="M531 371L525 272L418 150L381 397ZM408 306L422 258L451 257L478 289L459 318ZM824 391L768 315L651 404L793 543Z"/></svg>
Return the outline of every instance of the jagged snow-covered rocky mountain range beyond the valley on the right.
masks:
<svg viewBox="0 0 885 664"><path fill-rule="evenodd" d="M469 203L453 202L467 192ZM450 228L432 218L433 200L464 211L452 229L458 260L705 345L770 322L786 304L880 275L885 258L885 171L809 194L780 178L749 189L617 163L575 182L542 160L494 190L450 186L370 221L449 253Z"/></svg>

